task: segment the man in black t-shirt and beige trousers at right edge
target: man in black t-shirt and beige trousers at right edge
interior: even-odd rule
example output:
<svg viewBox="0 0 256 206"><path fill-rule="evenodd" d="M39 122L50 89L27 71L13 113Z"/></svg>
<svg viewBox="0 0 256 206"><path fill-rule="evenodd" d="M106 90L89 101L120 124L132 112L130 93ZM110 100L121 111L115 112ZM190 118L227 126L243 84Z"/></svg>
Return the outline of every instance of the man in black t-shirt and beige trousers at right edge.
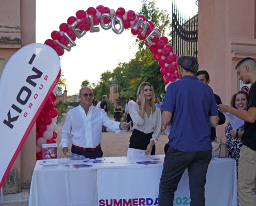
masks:
<svg viewBox="0 0 256 206"><path fill-rule="evenodd" d="M239 61L235 68L239 80L252 84L247 109L237 110L227 105L219 105L218 108L221 112L230 112L245 121L244 134L241 137L243 147L240 150L237 191L241 206L255 206L253 189L256 184L256 62L247 57Z"/></svg>

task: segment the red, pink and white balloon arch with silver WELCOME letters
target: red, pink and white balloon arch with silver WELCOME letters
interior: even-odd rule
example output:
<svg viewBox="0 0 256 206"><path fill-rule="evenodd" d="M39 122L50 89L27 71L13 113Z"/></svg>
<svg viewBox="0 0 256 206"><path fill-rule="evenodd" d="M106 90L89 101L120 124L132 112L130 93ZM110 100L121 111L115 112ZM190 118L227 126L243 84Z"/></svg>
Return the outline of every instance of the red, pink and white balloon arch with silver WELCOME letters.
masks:
<svg viewBox="0 0 256 206"><path fill-rule="evenodd" d="M155 28L153 22L146 22L144 15L136 16L134 11L125 11L122 7L115 11L99 5L96 9L89 7L86 11L79 10L76 17L70 16L67 23L59 25L59 31L53 31L52 39L46 40L44 44L51 46L58 56L62 56L65 50L70 52L71 48L77 45L76 39L82 38L87 31L99 32L100 28L95 27L99 24L102 29L112 29L117 35L120 35L124 29L131 28L132 35L137 35L140 40L144 40L145 45L153 53L154 59L159 61L160 72L164 75L163 81L170 83L180 79L176 64L178 56L172 53L173 48L168 44L168 38L160 37L160 29ZM56 91L55 87L37 118L37 160L42 159L42 144L56 143L57 132L55 130L58 114L55 109Z"/></svg>

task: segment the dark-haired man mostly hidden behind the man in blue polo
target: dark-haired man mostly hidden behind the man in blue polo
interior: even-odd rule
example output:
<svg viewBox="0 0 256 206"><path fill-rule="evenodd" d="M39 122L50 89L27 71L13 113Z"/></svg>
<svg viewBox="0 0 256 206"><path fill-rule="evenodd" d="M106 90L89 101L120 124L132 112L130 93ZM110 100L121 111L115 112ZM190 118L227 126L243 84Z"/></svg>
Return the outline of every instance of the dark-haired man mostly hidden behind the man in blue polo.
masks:
<svg viewBox="0 0 256 206"><path fill-rule="evenodd" d="M204 70L198 71L197 73L194 74L194 76L198 77L198 79L200 81L202 81L202 82L206 83L207 85L209 85L209 83L210 83L210 76L209 76L208 72L206 72ZM216 101L217 105L222 104L222 102L220 100L220 97L217 94L214 94L214 98L215 98L215 101ZM226 117L225 117L224 114L222 114L219 111L218 119L219 119L219 124L218 125L223 125L225 123ZM215 138L216 138L216 128L210 127L210 139L212 141L214 141Z"/></svg>

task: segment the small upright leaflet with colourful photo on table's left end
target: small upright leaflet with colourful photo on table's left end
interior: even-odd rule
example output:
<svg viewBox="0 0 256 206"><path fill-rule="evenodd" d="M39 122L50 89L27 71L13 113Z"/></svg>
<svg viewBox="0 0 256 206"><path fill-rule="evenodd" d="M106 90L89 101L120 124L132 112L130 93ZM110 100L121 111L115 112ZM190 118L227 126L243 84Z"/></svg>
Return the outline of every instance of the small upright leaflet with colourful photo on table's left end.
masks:
<svg viewBox="0 0 256 206"><path fill-rule="evenodd" d="M43 165L58 164L58 149L57 144L42 145Z"/></svg>

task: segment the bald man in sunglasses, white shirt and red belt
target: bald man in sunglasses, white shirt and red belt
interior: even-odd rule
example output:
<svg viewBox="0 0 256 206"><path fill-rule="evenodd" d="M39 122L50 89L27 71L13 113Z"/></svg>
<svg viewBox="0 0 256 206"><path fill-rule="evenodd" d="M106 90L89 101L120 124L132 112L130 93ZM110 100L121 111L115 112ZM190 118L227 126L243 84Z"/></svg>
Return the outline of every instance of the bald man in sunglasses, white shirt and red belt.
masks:
<svg viewBox="0 0 256 206"><path fill-rule="evenodd" d="M116 134L127 129L129 125L125 126L127 123L115 122L107 116L104 110L93 107L91 88L83 87L79 98L80 105L67 113L59 146L62 146L63 153L66 155L71 138L72 153L83 155L85 158L102 157L103 152L100 147L102 125L115 131Z"/></svg>

